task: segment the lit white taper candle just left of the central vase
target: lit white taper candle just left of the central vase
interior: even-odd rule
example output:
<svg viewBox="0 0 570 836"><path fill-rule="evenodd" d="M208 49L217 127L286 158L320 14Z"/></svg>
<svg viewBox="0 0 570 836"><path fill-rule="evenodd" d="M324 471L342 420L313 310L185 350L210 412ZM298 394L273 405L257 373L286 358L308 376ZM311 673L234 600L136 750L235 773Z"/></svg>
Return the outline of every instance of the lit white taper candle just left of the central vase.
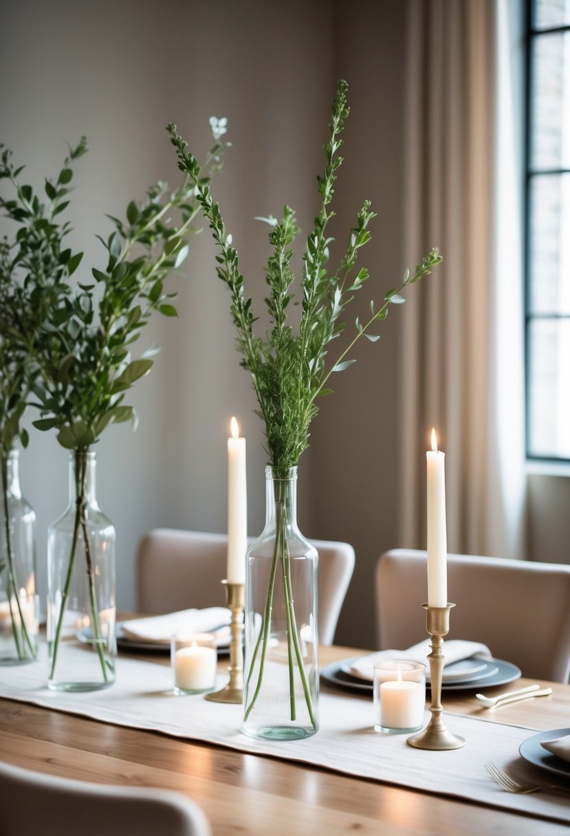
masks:
<svg viewBox="0 0 570 836"><path fill-rule="evenodd" d="M247 479L246 440L240 438L232 417L232 437L227 440L227 582L246 579Z"/></svg>

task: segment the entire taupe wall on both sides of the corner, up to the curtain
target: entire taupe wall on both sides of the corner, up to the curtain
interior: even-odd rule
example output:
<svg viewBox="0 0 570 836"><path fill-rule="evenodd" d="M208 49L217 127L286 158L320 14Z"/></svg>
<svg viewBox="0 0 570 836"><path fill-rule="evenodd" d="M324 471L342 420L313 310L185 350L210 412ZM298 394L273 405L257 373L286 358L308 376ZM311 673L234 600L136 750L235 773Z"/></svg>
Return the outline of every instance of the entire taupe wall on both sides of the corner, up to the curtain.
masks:
<svg viewBox="0 0 570 836"><path fill-rule="evenodd" d="M342 3L324 0L288 0L287 13L282 4L262 0L221 0L215 7L178 0L2 3L0 140L27 164L28 181L41 187L44 176L59 171L66 141L88 136L89 154L75 166L70 215L73 245L85 252L79 276L85 280L92 266L104 262L94 238L110 232L104 213L120 215L151 182L179 176L166 123L175 121L192 148L203 152L208 117L226 115L233 147L216 196L259 307L267 227L252 218L277 215L287 202L297 208L303 230L310 227L330 104L343 74L351 84L353 115L335 229L345 239L364 196L374 201L379 218L367 254L374 278L362 298L368 304L402 267L398 76L396 84L388 83L400 62L400 8L361 4L353 28ZM117 528L123 608L135 604L135 545L146 530L225 529L225 440L232 414L247 436L250 533L262 527L262 426L252 414L247 374L238 367L228 294L215 276L213 254L207 232L196 237L186 275L171 279L180 318L155 319L145 333L144 344L156 342L162 351L130 397L139 429L112 426L97 447L99 504ZM338 380L300 469L304 532L348 539L359 553L353 614L339 637L364 645L372 635L374 557L394 539L394 325L385 331L386 345L364 346L354 370ZM52 434L37 431L22 456L24 492L38 516L42 591L46 529L67 502L66 459Z"/></svg>

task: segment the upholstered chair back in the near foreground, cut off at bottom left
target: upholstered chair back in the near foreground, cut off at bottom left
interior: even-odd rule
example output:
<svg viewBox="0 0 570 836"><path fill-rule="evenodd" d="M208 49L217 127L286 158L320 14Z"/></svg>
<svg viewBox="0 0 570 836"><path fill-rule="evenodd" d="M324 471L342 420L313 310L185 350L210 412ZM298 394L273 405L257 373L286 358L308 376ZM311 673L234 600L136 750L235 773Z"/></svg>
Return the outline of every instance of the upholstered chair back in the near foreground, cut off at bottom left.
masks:
<svg viewBox="0 0 570 836"><path fill-rule="evenodd" d="M5 836L211 836L206 815L182 793L116 787L0 763Z"/></svg>

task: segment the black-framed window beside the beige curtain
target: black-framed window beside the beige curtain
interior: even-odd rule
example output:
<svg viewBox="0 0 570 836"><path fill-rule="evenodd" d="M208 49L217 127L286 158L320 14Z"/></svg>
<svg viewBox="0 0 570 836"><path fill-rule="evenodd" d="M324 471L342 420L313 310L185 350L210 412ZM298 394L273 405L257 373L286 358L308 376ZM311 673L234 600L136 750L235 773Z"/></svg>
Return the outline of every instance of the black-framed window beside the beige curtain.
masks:
<svg viewBox="0 0 570 836"><path fill-rule="evenodd" d="M570 0L530 0L527 456L570 460Z"/></svg>

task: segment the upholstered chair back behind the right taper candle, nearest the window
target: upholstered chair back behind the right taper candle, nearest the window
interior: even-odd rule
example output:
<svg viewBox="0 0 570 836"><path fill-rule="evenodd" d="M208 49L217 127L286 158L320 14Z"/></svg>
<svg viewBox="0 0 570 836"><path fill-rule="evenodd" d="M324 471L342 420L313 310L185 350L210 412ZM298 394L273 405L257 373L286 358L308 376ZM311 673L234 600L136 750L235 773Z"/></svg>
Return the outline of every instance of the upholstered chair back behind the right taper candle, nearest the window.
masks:
<svg viewBox="0 0 570 836"><path fill-rule="evenodd" d="M447 580L455 604L447 639L481 641L523 676L569 681L570 566L450 554ZM425 551L395 548L380 555L375 593L380 650L427 638Z"/></svg>

